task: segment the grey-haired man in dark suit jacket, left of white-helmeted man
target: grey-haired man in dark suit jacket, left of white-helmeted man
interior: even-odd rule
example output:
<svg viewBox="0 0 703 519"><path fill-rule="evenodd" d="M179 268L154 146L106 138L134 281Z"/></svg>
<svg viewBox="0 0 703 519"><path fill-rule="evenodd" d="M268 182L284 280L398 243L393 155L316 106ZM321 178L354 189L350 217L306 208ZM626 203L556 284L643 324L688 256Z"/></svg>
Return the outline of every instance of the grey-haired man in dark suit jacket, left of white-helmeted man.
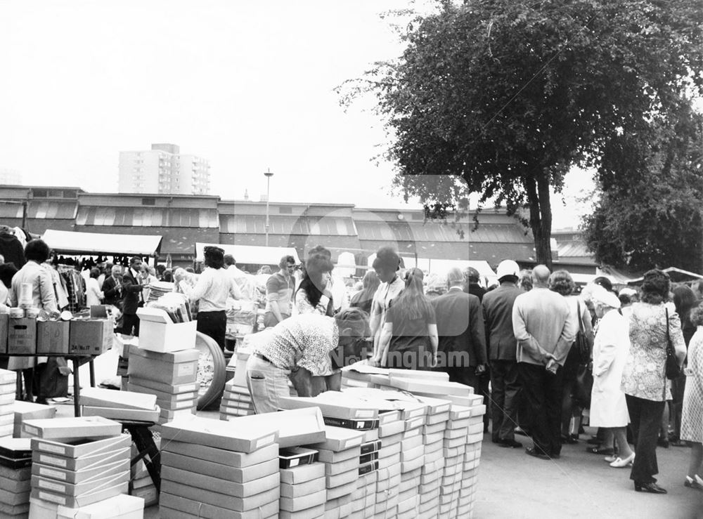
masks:
<svg viewBox="0 0 703 519"><path fill-rule="evenodd" d="M452 268L447 275L449 291L432 300L439 335L437 369L478 393L479 375L486 368L483 313L479 298L463 291L463 281L461 270Z"/></svg>

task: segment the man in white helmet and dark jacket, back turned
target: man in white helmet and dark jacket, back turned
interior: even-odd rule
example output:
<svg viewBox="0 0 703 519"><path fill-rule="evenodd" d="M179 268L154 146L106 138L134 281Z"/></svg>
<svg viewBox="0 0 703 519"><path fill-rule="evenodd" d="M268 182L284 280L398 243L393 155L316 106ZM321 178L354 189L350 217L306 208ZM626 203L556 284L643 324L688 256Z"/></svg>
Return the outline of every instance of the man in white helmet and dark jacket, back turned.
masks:
<svg viewBox="0 0 703 519"><path fill-rule="evenodd" d="M498 265L501 285L483 298L486 346L491 365L491 440L501 447L522 447L515 441L520 376L517 373L517 340L512 331L512 306L522 294L517 288L520 267L512 260Z"/></svg>

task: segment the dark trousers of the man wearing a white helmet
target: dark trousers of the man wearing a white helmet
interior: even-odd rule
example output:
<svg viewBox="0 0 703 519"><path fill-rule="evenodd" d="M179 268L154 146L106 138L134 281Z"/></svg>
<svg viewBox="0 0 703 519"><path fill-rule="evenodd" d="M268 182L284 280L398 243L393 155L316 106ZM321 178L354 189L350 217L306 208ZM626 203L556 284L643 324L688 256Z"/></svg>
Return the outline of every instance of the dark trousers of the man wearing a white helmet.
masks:
<svg viewBox="0 0 703 519"><path fill-rule="evenodd" d="M491 440L515 440L520 376L517 362L491 360Z"/></svg>

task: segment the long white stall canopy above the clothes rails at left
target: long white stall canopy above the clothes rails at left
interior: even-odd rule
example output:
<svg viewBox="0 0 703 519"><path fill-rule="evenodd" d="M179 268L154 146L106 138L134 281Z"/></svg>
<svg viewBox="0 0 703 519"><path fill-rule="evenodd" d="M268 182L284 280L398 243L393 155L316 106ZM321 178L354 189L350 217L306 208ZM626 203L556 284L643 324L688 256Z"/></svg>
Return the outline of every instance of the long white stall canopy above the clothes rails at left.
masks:
<svg viewBox="0 0 703 519"><path fill-rule="evenodd" d="M59 254L124 254L156 256L161 236L106 235L98 232L72 232L47 229L41 239Z"/></svg>

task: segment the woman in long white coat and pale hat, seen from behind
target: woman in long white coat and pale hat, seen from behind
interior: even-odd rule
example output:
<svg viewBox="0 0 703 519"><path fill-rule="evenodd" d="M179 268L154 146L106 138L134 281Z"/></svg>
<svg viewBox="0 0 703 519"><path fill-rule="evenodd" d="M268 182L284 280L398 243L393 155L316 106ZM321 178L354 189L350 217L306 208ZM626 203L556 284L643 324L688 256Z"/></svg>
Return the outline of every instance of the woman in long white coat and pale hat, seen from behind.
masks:
<svg viewBox="0 0 703 519"><path fill-rule="evenodd" d="M621 390L622 373L630 350L628 322L618 309L615 294L601 287L592 293L595 314L600 319L593 342L593 390L591 391L591 426L605 429L603 445L617 442L619 456L607 456L610 466L631 466L635 453L627 442L630 422L625 393Z"/></svg>

